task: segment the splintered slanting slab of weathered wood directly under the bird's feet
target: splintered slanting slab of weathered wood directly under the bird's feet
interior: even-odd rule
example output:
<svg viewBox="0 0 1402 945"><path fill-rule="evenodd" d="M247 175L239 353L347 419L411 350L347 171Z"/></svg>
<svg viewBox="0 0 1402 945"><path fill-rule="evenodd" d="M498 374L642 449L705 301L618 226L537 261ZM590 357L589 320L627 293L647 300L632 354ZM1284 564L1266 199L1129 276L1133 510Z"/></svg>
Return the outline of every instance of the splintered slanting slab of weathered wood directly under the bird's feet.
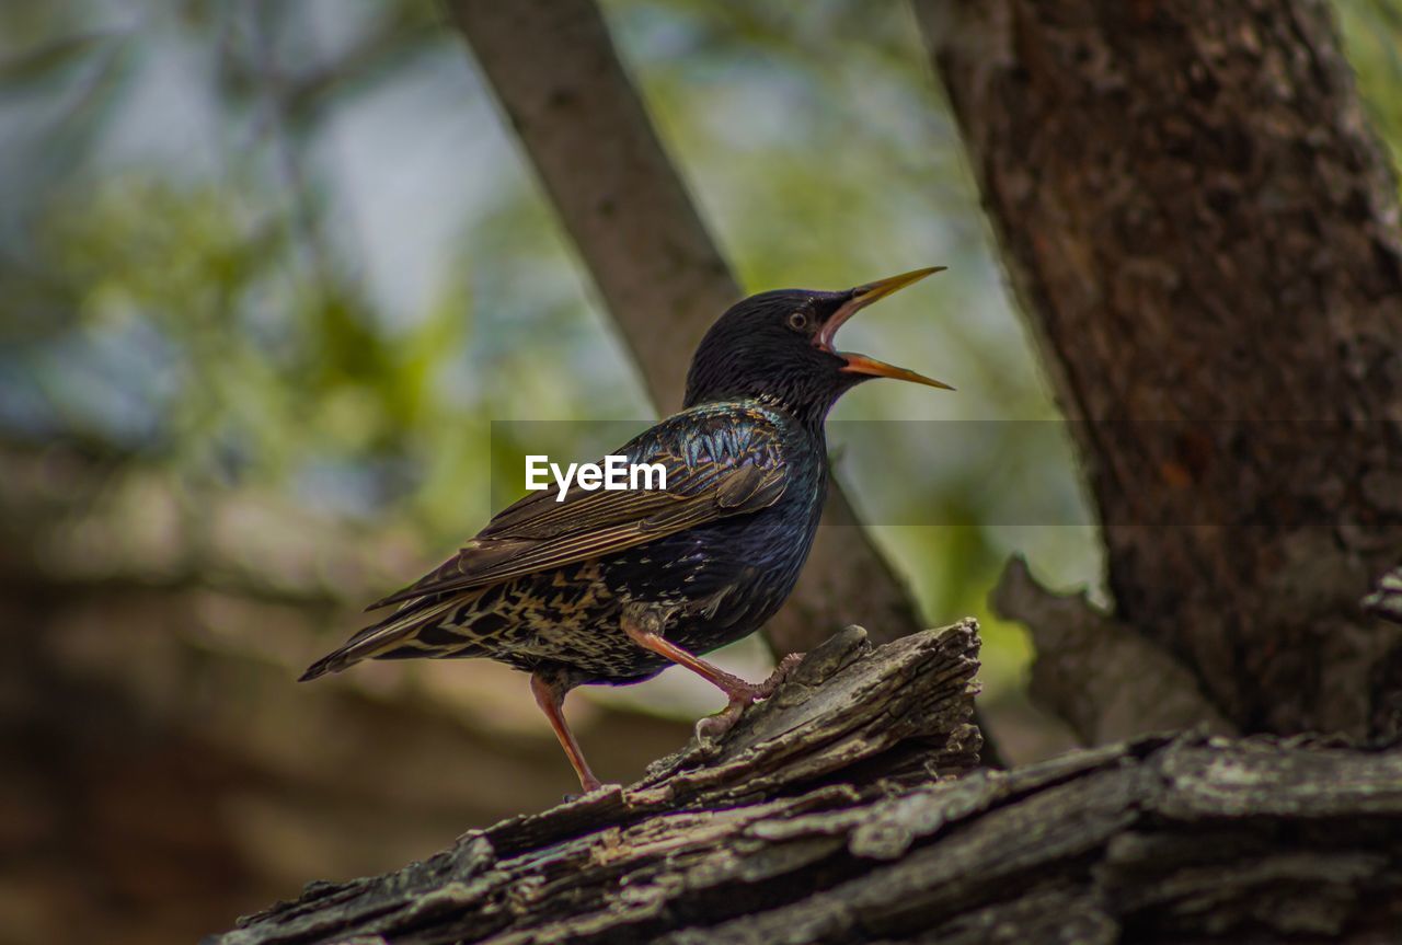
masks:
<svg viewBox="0 0 1402 945"><path fill-rule="evenodd" d="M751 827L782 831L789 817L838 812L864 798L973 770L980 743L969 723L977 652L972 620L880 648L851 627L810 652L722 739L693 740L655 763L638 784L611 785L471 831L451 850L398 873L313 883L299 902L275 906L215 941L477 941L508 928L530 930L544 941L586 934L607 941L638 920L652 925L667 896L659 897L660 886L628 890L617 885L622 875L660 875L691 864L693 881L705 886L702 873L723 871L732 844L746 845ZM787 852L773 866L801 868L802 859L792 857L802 858L812 844L774 838ZM872 850L892 843L873 830L864 841ZM817 847L843 843L830 838ZM763 871L751 866L743 872L758 881ZM702 893L707 900L725 896L735 878L715 879ZM621 895L631 903L620 900L614 909L551 892L578 881L586 897ZM589 914L594 906L604 909ZM743 900L715 903L716 917L733 914L736 906Z"/></svg>

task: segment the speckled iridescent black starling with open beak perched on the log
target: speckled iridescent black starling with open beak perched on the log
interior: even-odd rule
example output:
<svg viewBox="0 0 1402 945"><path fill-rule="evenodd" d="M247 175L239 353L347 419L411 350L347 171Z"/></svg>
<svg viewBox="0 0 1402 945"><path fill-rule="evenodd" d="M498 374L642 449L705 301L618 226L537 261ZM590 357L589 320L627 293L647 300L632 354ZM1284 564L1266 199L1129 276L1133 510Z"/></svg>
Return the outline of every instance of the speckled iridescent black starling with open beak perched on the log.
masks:
<svg viewBox="0 0 1402 945"><path fill-rule="evenodd" d="M736 303L697 346L681 411L614 453L662 464L666 488L583 489L576 481L561 495L529 494L439 568L370 604L394 610L313 663L301 681L366 659L506 663L530 674L586 795L601 782L564 715L578 686L627 686L684 666L725 693L726 708L708 729L722 732L792 665L756 684L702 656L757 631L794 590L827 495L829 411L875 377L953 390L838 351L837 329L944 268Z"/></svg>

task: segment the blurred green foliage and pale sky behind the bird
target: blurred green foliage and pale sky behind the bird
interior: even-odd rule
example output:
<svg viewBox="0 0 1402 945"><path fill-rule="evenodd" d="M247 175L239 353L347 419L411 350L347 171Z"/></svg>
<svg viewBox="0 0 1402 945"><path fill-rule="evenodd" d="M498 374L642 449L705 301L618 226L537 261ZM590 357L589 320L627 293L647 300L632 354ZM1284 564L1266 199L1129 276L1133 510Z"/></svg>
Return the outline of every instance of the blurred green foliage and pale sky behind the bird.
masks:
<svg viewBox="0 0 1402 945"><path fill-rule="evenodd" d="M841 475L931 621L988 618L1012 551L1099 585L1068 444L967 450L956 421L1056 411L1004 292L956 129L903 4L608 0L621 53L751 290L951 272L852 346L955 383L873 384L843 419L927 436ZM1339 0L1402 143L1402 0ZM651 415L607 314L464 48L426 0L0 7L0 433L192 491L258 484L449 548L530 443L492 419ZM1396 151L1395 151L1396 153ZM663 405L672 408L674 405ZM503 428L510 429L510 428ZM573 457L592 458L592 457ZM359 596L365 596L356 590ZM366 592L369 593L369 592ZM1026 659L990 625L994 688Z"/></svg>

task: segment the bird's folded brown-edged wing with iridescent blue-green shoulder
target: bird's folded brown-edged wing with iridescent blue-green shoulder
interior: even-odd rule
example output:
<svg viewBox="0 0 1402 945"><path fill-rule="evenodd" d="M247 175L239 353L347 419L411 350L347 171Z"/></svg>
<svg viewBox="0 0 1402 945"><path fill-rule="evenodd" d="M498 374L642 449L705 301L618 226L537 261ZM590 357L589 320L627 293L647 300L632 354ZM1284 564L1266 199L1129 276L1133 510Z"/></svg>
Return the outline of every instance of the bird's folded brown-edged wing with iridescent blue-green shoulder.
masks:
<svg viewBox="0 0 1402 945"><path fill-rule="evenodd" d="M781 433L754 408L693 409L620 450L658 463L666 489L531 494L498 513L475 538L421 580L369 607L495 585L614 554L669 534L767 508L788 484Z"/></svg>

